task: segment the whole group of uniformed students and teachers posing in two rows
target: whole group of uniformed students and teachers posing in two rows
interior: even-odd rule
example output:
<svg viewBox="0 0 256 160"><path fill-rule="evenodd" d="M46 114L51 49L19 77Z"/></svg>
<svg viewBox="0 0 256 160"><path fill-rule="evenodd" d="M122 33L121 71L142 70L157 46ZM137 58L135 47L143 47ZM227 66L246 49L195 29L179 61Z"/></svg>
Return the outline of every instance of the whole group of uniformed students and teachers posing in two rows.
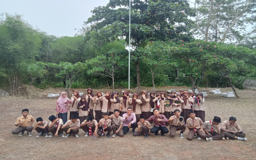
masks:
<svg viewBox="0 0 256 160"><path fill-rule="evenodd" d="M79 129L83 129L85 136L96 138L107 135L111 138L111 132L112 137L123 137L132 128L133 136L144 135L148 138L150 132L158 135L161 131L161 136L170 132L170 136L174 137L176 131L180 131L180 138L184 138L183 133L188 127L188 140L204 138L209 141L227 138L246 141L245 133L234 116L230 116L229 120L221 125L221 118L218 116L205 122L204 97L201 92L194 96L193 92L180 90L165 97L164 92L148 94L143 90L140 97L136 93L124 92L120 99L117 92L111 95L109 92L104 95L97 92L93 95L92 88L87 92L87 95L80 97L79 92L75 90L71 99L67 98L67 93L62 92L57 100L58 116L49 116L49 124L38 117L32 127L35 120L29 115L28 109L23 109L22 116L15 123L17 128L12 133L22 136L24 131L28 131L31 136L34 129L39 133L36 137L45 134L45 137L61 135L68 138L70 134L79 137ZM153 113L150 112L151 109ZM67 120L68 111L70 120ZM153 127L151 123L154 123ZM170 130L167 125L170 125Z"/></svg>

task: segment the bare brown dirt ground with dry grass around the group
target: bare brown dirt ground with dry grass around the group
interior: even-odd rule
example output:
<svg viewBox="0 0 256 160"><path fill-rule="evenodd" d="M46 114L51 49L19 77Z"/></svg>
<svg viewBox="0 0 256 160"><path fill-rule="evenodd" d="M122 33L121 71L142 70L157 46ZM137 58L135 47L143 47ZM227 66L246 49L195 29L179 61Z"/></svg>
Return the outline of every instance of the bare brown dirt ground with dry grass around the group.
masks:
<svg viewBox="0 0 256 160"><path fill-rule="evenodd" d="M186 87L163 87L157 91L175 88L189 89ZM150 91L151 88L143 88ZM201 88L212 90L213 88ZM100 89L106 91L107 89ZM36 138L36 131L32 137L24 134L19 137L12 135L15 129L14 123L24 108L29 109L34 118L42 116L44 120L52 114L56 114L56 99L48 99L48 93L60 93L60 89L38 90L34 89L31 99L25 97L0 98L0 159L256 159L256 125L255 125L255 90L237 90L240 99L224 98L220 95L208 93L205 98L205 120L212 120L213 116L220 116L221 120L227 120L229 116L236 116L237 122L246 132L248 141L220 140L188 141L184 133L184 139L179 138L179 132L175 138L150 135L133 137L131 131L124 138L90 138L84 137L84 131L80 129L79 138ZM86 92L86 89L79 90ZM93 90L96 93L98 90ZM111 89L109 89L111 91ZM122 89L118 89L118 92ZM232 91L231 88L223 88L221 92Z"/></svg>

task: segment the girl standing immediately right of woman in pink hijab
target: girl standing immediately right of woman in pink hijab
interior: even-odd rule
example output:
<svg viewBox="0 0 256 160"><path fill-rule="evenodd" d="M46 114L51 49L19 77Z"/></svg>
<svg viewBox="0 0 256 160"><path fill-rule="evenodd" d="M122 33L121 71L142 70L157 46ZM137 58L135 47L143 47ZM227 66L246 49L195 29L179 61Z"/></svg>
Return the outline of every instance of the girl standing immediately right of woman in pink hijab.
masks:
<svg viewBox="0 0 256 160"><path fill-rule="evenodd" d="M80 102L81 97L80 97L79 92L77 90L74 90L73 97L71 97L70 100L71 100L72 103L69 105L69 110L70 110L69 119L71 119L72 115L76 115L77 117L79 116L77 105Z"/></svg>

